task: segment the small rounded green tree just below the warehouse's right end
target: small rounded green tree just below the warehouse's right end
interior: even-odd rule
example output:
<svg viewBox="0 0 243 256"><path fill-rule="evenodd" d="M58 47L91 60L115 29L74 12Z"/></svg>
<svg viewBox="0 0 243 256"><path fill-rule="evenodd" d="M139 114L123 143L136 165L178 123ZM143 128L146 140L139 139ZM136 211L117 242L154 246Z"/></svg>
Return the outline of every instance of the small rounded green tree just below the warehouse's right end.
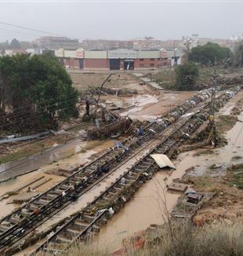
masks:
<svg viewBox="0 0 243 256"><path fill-rule="evenodd" d="M177 66L176 69L176 89L177 90L194 90L198 80L198 66L194 63L185 63Z"/></svg>

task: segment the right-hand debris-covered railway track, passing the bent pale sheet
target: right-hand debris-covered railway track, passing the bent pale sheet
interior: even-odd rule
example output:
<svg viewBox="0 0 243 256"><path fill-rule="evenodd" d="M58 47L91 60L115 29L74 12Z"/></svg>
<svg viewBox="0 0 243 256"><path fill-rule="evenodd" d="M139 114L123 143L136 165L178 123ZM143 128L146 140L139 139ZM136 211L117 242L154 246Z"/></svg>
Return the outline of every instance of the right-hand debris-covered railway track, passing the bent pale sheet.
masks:
<svg viewBox="0 0 243 256"><path fill-rule="evenodd" d="M217 99L216 103L222 106L231 96L230 94L223 95ZM113 210L111 207L114 203L120 201L121 204L124 204L126 202L125 191L127 192L128 188L132 188L138 183L143 183L147 177L158 170L151 154L165 154L182 139L184 133L193 133L207 119L209 115L207 107L209 104L198 108L193 115L181 118L174 126L169 127L163 134L163 139L143 159L140 159L113 185L102 192L92 203L89 203L89 206L75 214L60 229L56 230L31 256L35 254L43 256L66 254L72 244L78 240L89 240L93 234L99 232L100 225L105 224L107 218L110 218L110 210ZM103 209L103 206L107 206L107 208Z"/></svg>

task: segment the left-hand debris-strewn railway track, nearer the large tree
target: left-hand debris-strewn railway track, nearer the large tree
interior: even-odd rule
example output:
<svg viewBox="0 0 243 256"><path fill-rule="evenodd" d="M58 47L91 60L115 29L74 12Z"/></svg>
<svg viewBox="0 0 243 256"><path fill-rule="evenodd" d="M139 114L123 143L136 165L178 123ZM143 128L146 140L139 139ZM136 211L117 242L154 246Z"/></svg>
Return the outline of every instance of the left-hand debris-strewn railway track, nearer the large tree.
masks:
<svg viewBox="0 0 243 256"><path fill-rule="evenodd" d="M152 127L157 132L166 133L166 129L170 130L170 125L176 119L179 119L183 113L207 98L199 98L198 102L192 100L185 102L179 106L180 108L178 107L168 115L165 115L160 125L154 122L147 126L147 129ZM143 137L136 139L133 143L129 140L124 141L124 145L129 147L129 152L123 152L123 150L118 149L106 152L100 158L89 163L89 165L77 170L60 184L31 200L26 206L2 218L0 221L0 253L5 252L8 247L21 240L33 229L36 229L38 225L41 225L64 207L67 207L78 196L82 196L92 186L102 181L109 174L109 170L116 170L115 167L118 167L122 160L129 159L129 155L132 152L136 152L142 144L143 147L146 147L153 142L155 139L150 141L153 136L154 131L148 130ZM140 149L143 150L143 147ZM37 212L34 212L36 209Z"/></svg>

